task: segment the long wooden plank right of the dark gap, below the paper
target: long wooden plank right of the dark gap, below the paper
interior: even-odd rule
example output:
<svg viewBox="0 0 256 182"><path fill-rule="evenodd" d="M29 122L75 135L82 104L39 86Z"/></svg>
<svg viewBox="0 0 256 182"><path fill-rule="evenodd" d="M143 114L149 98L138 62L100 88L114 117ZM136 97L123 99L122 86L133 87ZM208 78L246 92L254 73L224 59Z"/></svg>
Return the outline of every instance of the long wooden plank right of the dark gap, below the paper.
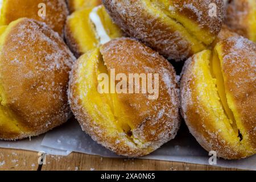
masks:
<svg viewBox="0 0 256 182"><path fill-rule="evenodd" d="M231 168L221 168L214 166L204 166L188 163L165 162L159 160L144 160L144 159L110 159L101 158L100 156L72 153L69 156L47 156L46 165L42 170L87 170L87 171L147 171L147 170L163 170L163 171L178 171L178 170L237 170Z"/></svg>

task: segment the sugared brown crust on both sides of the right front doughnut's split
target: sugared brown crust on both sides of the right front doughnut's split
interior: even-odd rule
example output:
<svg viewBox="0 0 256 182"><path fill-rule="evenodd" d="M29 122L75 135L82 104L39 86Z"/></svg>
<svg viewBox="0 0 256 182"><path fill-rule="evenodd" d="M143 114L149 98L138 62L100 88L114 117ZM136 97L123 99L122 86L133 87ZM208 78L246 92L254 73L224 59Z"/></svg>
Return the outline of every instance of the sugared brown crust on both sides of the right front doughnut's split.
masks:
<svg viewBox="0 0 256 182"><path fill-rule="evenodd" d="M221 45L223 51L218 56L223 58L222 72L226 94L232 96L241 118L242 123L238 129L245 127L245 130L240 130L241 140L237 139L238 134L231 134L232 138L235 138L232 141L223 137L230 136L233 129L228 130L226 127L227 130L222 130L223 127L216 126L225 125L223 118L216 118L219 111L210 105L210 96L209 101L203 101L200 96L208 93L200 93L199 86L209 87L205 82L198 84L199 77L203 76L195 73L200 53L188 59L183 68L180 88L181 113L192 135L205 150L216 151L217 156L225 159L241 159L256 153L256 46L253 42L236 36L222 40L218 45Z"/></svg>

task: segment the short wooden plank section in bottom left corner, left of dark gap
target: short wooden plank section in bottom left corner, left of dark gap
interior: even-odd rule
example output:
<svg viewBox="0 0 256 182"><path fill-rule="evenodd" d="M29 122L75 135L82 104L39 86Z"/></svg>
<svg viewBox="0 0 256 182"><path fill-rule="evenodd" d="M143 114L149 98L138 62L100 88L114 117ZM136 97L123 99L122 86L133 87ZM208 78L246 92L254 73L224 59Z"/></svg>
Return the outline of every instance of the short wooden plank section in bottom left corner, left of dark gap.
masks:
<svg viewBox="0 0 256 182"><path fill-rule="evenodd" d="M0 170L35 171L38 169L38 152L0 149Z"/></svg>

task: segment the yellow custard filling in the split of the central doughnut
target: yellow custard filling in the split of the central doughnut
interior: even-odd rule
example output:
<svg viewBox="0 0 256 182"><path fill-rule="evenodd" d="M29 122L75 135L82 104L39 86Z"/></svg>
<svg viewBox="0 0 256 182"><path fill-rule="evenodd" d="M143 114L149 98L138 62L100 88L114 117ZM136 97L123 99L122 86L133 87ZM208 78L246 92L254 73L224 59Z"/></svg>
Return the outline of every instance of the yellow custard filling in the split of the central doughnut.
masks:
<svg viewBox="0 0 256 182"><path fill-rule="evenodd" d="M79 69L79 95L82 105L96 121L98 125L106 128L110 134L119 133L127 134L130 137L130 131L133 125L130 118L125 113L122 103L118 100L117 93L98 92L98 75L108 73L100 50L97 48L80 57L83 59Z"/></svg>

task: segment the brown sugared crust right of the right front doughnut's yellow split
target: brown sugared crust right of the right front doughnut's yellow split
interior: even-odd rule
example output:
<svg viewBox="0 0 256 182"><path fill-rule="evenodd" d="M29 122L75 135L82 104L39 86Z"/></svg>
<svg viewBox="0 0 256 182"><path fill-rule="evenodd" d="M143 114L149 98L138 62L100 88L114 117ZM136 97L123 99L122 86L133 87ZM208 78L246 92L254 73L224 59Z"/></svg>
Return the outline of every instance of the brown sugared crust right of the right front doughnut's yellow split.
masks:
<svg viewBox="0 0 256 182"><path fill-rule="evenodd" d="M223 47L223 74L226 92L233 96L248 142L256 150L256 45L246 38L229 38Z"/></svg>

